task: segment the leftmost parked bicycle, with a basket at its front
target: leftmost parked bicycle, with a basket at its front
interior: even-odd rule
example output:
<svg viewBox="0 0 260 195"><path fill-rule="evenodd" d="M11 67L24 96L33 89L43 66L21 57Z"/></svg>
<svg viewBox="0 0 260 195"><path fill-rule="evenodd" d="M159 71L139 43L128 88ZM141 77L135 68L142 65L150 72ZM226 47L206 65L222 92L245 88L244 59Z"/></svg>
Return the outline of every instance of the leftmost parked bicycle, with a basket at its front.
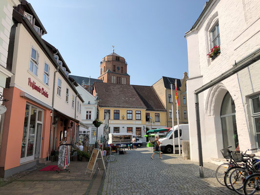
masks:
<svg viewBox="0 0 260 195"><path fill-rule="evenodd" d="M225 186L224 183L224 176L227 172L228 169L230 169L231 167L237 167L239 166L239 164L234 160L233 156L232 156L232 152L231 150L229 150L229 148L231 148L232 146L228 146L227 148L223 148L220 150L220 152L222 153L223 157L226 158L227 163L223 163L221 164L217 170L216 170L216 178L218 180L218 182Z"/></svg>

